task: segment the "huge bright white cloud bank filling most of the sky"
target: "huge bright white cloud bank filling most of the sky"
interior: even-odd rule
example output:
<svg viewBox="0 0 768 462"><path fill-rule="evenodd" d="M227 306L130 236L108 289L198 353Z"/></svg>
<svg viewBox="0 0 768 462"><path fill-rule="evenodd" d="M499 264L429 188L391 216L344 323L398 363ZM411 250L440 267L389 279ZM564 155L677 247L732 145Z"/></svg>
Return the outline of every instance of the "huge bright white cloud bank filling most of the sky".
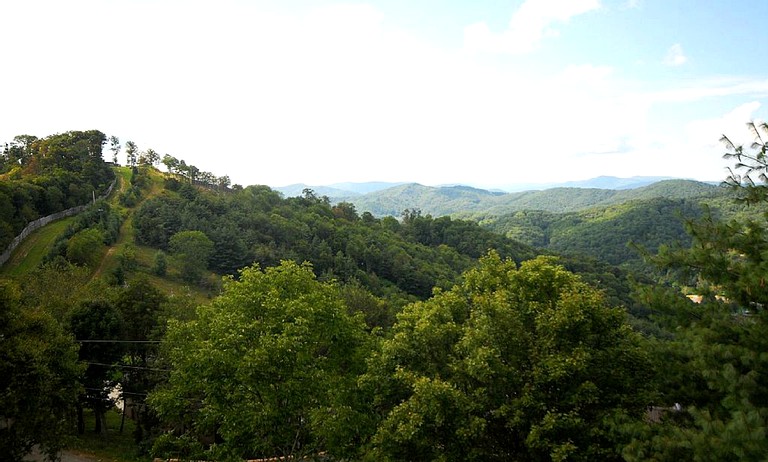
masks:
<svg viewBox="0 0 768 462"><path fill-rule="evenodd" d="M82 18L68 13L69 3L51 2L70 21L46 19L40 26L50 36L9 48L9 62L24 65L6 72L0 88L0 141L96 128L235 183L273 186L385 180L503 187L535 176L561 181L673 168L712 179L722 171L715 165L722 151L703 143L716 144L722 132L746 134L743 124L755 112L730 116L738 130L720 118L768 97L764 77L670 83L632 80L611 63L546 74L516 68L516 60L497 66L396 28L363 5L79 4ZM19 5L15 17L34 17L35 8ZM506 31L480 24L475 33L485 34L488 50L523 52L598 7L529 0ZM103 17L111 20L96 20ZM9 27L16 29L0 28L0 39L23 35L18 21ZM101 72L73 59L86 49L108 58L99 61ZM656 111L669 113L662 134ZM687 125L679 112L711 120ZM694 168L697 174L686 175Z"/></svg>

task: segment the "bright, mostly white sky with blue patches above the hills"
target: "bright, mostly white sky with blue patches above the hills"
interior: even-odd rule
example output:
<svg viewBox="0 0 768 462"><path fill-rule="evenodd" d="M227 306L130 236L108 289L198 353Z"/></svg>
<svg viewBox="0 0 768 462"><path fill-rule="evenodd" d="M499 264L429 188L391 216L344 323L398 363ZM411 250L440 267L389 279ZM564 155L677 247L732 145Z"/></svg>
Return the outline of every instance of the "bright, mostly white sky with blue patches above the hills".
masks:
<svg viewBox="0 0 768 462"><path fill-rule="evenodd" d="M718 181L720 137L768 115L765 0L4 0L0 18L0 141L96 129L244 186Z"/></svg>

